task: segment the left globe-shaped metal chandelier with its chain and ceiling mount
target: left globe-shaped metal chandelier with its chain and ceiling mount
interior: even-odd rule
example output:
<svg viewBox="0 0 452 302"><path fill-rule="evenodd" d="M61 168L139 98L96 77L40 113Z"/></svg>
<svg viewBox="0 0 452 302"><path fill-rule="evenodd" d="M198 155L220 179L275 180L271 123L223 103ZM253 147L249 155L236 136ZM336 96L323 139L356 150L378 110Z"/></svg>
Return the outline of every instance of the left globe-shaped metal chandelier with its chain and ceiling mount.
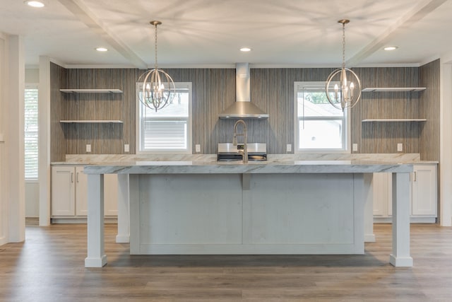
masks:
<svg viewBox="0 0 452 302"><path fill-rule="evenodd" d="M155 28L155 64L154 69L146 71L138 79L138 82L143 81L143 91L139 99L143 105L157 112L172 103L176 87L171 76L157 67L157 25L162 22L150 21L150 24Z"/></svg>

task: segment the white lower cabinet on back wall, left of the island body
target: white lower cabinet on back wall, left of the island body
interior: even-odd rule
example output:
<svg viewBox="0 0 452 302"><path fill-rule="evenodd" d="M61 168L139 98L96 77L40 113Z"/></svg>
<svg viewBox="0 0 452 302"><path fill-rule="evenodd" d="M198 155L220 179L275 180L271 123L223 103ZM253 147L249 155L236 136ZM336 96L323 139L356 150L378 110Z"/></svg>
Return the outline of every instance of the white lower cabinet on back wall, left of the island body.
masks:
<svg viewBox="0 0 452 302"><path fill-rule="evenodd" d="M88 180L83 165L52 166L52 221L86 219ZM104 214L117 216L117 175L104 177Z"/></svg>

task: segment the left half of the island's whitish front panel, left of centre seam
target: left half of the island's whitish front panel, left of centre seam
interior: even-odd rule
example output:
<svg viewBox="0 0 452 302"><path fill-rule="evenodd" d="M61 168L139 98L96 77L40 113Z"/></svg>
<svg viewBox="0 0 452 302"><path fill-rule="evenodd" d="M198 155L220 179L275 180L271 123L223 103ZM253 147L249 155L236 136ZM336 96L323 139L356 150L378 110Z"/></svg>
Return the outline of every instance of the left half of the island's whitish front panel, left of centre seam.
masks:
<svg viewBox="0 0 452 302"><path fill-rule="evenodd" d="M227 253L241 245L240 176L140 175L141 254Z"/></svg>

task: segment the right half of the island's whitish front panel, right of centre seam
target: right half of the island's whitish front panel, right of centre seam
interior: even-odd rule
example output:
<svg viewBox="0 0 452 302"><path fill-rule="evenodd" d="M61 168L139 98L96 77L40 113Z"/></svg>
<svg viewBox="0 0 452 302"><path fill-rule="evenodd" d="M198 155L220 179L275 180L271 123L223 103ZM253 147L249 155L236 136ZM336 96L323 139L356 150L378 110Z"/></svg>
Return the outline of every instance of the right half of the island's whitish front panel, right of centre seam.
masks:
<svg viewBox="0 0 452 302"><path fill-rule="evenodd" d="M250 243L277 253L362 254L362 176L355 182L352 173L252 175Z"/></svg>

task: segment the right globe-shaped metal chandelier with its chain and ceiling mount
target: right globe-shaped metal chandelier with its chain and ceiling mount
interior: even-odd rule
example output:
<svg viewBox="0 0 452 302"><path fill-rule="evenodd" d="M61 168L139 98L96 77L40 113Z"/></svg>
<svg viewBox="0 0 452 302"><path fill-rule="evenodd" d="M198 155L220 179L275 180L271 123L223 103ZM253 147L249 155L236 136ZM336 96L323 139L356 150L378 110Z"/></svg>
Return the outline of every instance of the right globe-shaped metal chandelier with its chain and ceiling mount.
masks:
<svg viewBox="0 0 452 302"><path fill-rule="evenodd" d="M361 98L361 82L358 76L351 69L345 68L345 24L349 23L350 20L343 19L339 20L338 23L342 24L342 68L333 71L326 80L325 91L326 98L328 102L331 103L335 108L344 110L345 108L354 107L359 99ZM348 74L348 76L347 76ZM340 76L339 81L337 75ZM338 85L339 82L339 85ZM332 89L331 85L334 87ZM330 93L333 93L333 96Z"/></svg>

